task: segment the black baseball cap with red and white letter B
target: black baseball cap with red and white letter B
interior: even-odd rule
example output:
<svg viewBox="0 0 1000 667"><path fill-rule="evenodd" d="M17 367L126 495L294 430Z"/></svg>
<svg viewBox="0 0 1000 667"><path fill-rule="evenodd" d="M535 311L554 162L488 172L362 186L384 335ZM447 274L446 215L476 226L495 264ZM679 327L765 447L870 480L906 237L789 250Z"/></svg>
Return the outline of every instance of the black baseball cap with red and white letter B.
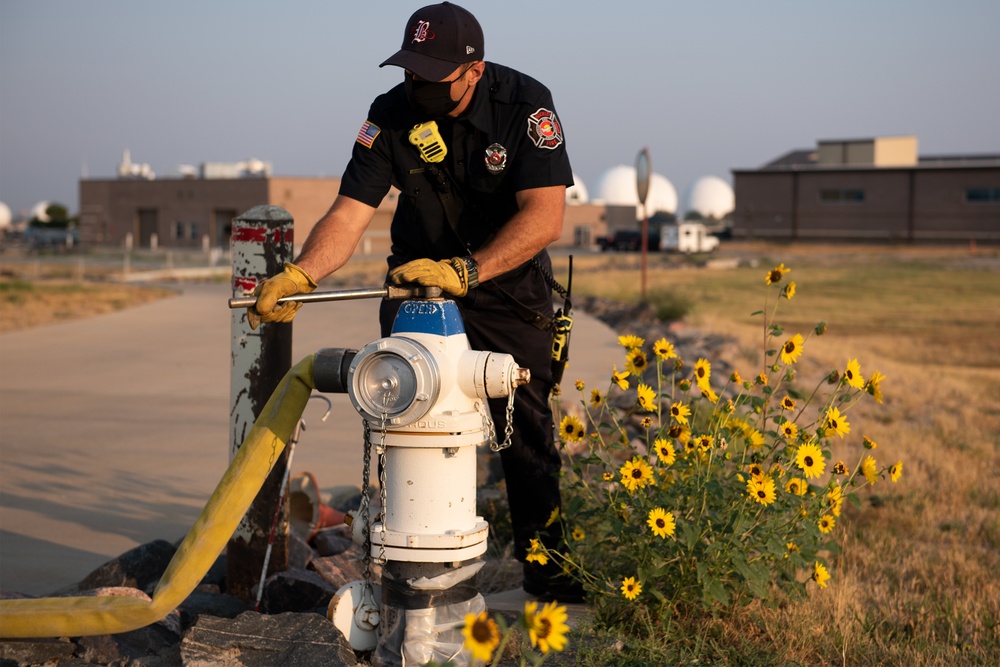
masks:
<svg viewBox="0 0 1000 667"><path fill-rule="evenodd" d="M379 67L396 65L440 81L463 63L483 59L483 29L468 10L442 2L418 9L406 23L403 46Z"/></svg>

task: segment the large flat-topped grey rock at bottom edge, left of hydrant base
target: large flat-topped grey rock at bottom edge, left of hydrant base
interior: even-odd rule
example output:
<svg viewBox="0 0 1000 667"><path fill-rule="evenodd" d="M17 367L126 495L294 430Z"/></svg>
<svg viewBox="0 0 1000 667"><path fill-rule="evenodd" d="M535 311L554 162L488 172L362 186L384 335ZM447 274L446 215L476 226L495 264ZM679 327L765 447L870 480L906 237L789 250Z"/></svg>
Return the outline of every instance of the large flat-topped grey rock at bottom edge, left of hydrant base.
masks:
<svg viewBox="0 0 1000 667"><path fill-rule="evenodd" d="M202 616L180 646L184 667L355 667L344 635L319 614L265 616L252 611L235 619Z"/></svg>

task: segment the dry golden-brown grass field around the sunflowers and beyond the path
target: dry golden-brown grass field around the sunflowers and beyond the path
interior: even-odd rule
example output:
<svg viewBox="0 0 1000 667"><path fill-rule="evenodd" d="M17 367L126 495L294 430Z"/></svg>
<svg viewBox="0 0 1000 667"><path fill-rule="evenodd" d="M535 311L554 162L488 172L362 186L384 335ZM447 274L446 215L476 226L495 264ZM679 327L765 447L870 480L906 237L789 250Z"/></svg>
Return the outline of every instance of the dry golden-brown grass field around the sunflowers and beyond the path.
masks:
<svg viewBox="0 0 1000 667"><path fill-rule="evenodd" d="M852 410L843 453L856 460L867 435L878 443L872 454L880 466L902 460L903 475L863 491L862 506L845 510L829 588L720 621L726 657L698 664L732 664L734 656L746 665L1000 664L1000 252L733 243L716 260L739 266L650 255L649 299L685 311L686 326L737 339L738 358L727 361L753 375L764 331L750 314L764 306L765 272L783 262L797 293L780 304L778 320L787 332L805 334L819 321L828 327L807 340L797 382L811 388L852 358L866 376L884 374L884 404ZM584 254L574 266L577 296L640 298L638 255ZM349 267L364 282L380 278L384 264ZM565 267L557 256L558 278ZM8 281L0 284L0 330L98 310L69 302L119 308L165 294ZM32 310L47 308L48 320L29 318L26 300ZM554 664L635 664L600 651L561 658Z"/></svg>

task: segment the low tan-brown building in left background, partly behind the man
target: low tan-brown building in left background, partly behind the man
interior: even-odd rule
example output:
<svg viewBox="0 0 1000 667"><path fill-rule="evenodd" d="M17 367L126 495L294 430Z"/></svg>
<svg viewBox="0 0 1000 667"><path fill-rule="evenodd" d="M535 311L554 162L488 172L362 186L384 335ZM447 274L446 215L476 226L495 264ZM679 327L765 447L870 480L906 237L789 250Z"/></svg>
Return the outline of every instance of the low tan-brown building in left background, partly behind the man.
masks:
<svg viewBox="0 0 1000 667"><path fill-rule="evenodd" d="M80 242L136 248L228 248L233 218L254 206L280 206L295 220L301 245L340 188L336 178L163 178L80 181ZM356 252L387 255L393 189L379 205ZM589 247L606 233L604 207L570 203L557 246Z"/></svg>

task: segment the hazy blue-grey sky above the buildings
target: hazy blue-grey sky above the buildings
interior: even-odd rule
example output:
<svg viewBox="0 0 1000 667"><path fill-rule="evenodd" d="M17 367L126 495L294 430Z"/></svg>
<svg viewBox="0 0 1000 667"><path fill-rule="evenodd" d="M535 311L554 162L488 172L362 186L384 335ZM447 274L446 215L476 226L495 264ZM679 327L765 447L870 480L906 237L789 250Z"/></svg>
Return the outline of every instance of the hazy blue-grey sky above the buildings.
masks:
<svg viewBox="0 0 1000 667"><path fill-rule="evenodd" d="M258 158L339 177L378 64L425 0L0 0L0 201L75 213L122 151L158 177ZM1000 154L996 0L461 0L486 60L552 91L573 171L684 193L817 140L916 135Z"/></svg>

